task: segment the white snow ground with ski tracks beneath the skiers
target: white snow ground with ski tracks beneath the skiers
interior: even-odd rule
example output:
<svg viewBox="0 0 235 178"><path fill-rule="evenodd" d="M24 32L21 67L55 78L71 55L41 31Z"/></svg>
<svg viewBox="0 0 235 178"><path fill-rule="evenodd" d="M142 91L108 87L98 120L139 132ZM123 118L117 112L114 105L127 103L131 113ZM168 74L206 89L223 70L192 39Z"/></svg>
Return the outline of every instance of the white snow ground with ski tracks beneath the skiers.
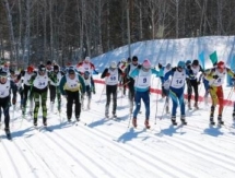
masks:
<svg viewBox="0 0 235 178"><path fill-rule="evenodd" d="M94 78L101 80L98 75ZM152 87L158 86L158 79L153 78ZM224 88L224 98L230 92L231 87ZM201 87L200 96L203 93ZM235 100L234 94L230 99ZM19 103L15 111L11 107L13 140L5 139L4 126L0 130L0 178L234 178L232 107L225 106L224 127L209 126L210 105L203 102L199 110L186 111L187 126L173 127L171 116L163 111L164 99L152 93L151 129L145 130L143 105L138 128L133 129L128 97L121 91L118 92L118 119L105 119L105 103L104 84L96 83L92 109L82 110L81 122L75 126L67 122L66 99L62 98L59 116L55 112L56 106L55 111L49 110L48 97L51 132L35 130L30 115L22 120ZM180 122L179 110L177 114ZM38 124L42 122L39 112Z"/></svg>

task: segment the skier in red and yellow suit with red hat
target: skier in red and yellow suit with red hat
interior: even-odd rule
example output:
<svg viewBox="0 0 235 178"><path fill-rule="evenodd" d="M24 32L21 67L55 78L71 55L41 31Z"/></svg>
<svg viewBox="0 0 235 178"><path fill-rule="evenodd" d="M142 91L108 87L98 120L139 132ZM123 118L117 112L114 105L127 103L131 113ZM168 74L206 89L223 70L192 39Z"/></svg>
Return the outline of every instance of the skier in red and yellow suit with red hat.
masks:
<svg viewBox="0 0 235 178"><path fill-rule="evenodd" d="M210 84L210 95L212 99L211 114L210 114L210 123L215 124L214 122L214 109L219 103L219 115L218 115L218 123L223 124L224 121L222 119L223 112L223 83L226 74L230 74L232 78L235 78L235 73L232 72L231 69L225 67L223 61L218 62L218 64L210 70L210 72L205 75L207 80L209 80Z"/></svg>

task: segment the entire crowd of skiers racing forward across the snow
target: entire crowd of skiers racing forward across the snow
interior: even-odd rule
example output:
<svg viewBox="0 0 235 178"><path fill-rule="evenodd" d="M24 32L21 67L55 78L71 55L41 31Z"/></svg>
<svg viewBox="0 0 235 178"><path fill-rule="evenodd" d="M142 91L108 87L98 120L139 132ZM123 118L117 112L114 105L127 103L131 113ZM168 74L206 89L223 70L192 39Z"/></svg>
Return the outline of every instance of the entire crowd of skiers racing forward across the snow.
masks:
<svg viewBox="0 0 235 178"><path fill-rule="evenodd" d="M95 94L95 84L92 74L95 71L94 64L90 57L86 57L82 62L75 67L69 67L61 71L56 62L47 61L46 64L40 63L37 69L28 66L26 70L16 73L9 68L1 68L0 70L0 107L4 114L4 130L10 137L10 115L9 108L11 105L15 107L17 92L20 94L20 104L22 115L25 117L27 103L30 102L30 114L33 116L33 123L37 127L38 109L43 109L43 124L47 126L47 95L49 88L50 110L54 110L55 100L57 98L57 110L61 111L61 95L67 98L67 119L71 121L72 106L75 105L74 116L77 121L80 120L81 109L84 109L84 98L87 96L87 109L91 108L92 93ZM199 78L199 74L200 78ZM187 84L187 104L191 109L191 95L195 92L195 108L199 109L199 84L203 80L205 97L211 95L212 106L210 111L210 123L214 124L214 110L219 104L218 123L223 124L223 83L226 74L235 78L235 73L225 67L223 61L214 64L213 68L204 70L195 59L191 61L179 61L176 67L171 63L163 66L158 63L158 71L152 68L149 59L139 63L138 57L132 59L121 60L119 63L111 61L101 74L105 79L106 85L106 105L105 117L109 118L109 105L113 98L113 118L117 117L117 92L118 86L122 88L126 95L128 87L129 111L132 116L132 126L138 126L138 114L141 108L141 99L145 106L144 126L149 129L150 122L150 86L151 78L155 75L162 82L162 97L165 98L164 109L169 112L169 97L172 98L172 123L177 124L176 111L179 104L180 120L183 124L186 121L185 107L185 83ZM12 96L11 96L12 93ZM34 100L34 103L33 103ZM133 109L133 106L136 108ZM1 116L1 109L0 109ZM233 119L235 120L235 105L233 111ZM1 123L1 122L0 122Z"/></svg>

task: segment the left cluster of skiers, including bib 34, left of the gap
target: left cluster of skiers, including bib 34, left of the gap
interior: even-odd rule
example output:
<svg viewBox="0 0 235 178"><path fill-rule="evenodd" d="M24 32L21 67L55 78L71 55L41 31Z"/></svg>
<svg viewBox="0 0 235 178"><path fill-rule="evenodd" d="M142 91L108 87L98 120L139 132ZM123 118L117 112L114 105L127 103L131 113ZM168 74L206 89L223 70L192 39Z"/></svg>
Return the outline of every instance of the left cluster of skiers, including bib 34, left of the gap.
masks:
<svg viewBox="0 0 235 178"><path fill-rule="evenodd" d="M91 93L95 94L95 85L92 73L95 70L94 64L86 57L78 66L69 67L64 71L51 61L46 64L40 63L38 68L28 66L26 70L16 73L12 69L0 69L0 116L4 114L4 131L10 138L10 106L15 109L17 92L21 96L20 107L23 118L26 115L27 103L30 102L30 115L33 116L33 123L37 127L38 109L42 106L43 124L47 127L47 95L49 88L50 111L54 110L57 97L57 111L61 111L61 95L67 98L67 118L71 121L72 106L75 105L75 119L80 120L81 108L84 108L83 102L85 93L87 94L87 109L91 105ZM12 99L11 99L12 93ZM82 102L82 105L81 105ZM1 118L1 117L0 117ZM0 120L1 123L1 120Z"/></svg>

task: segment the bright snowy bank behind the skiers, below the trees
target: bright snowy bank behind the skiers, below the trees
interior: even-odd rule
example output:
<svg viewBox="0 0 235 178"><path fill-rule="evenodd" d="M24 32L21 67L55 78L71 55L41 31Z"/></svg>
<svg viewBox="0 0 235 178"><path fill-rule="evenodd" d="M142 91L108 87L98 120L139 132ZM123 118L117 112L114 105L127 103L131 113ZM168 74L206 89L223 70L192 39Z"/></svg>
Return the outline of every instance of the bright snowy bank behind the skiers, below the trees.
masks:
<svg viewBox="0 0 235 178"><path fill-rule="evenodd" d="M171 62L176 64L179 60L193 60L203 52L205 67L211 67L209 55L218 52L219 60L224 60L227 64L233 59L235 36L209 36L199 38L183 39L155 39L131 44L131 55L138 56L140 62L145 58L150 59L153 66L157 62ZM113 51L93 58L99 71L103 71L110 61L120 61L128 58L128 46L117 48Z"/></svg>

